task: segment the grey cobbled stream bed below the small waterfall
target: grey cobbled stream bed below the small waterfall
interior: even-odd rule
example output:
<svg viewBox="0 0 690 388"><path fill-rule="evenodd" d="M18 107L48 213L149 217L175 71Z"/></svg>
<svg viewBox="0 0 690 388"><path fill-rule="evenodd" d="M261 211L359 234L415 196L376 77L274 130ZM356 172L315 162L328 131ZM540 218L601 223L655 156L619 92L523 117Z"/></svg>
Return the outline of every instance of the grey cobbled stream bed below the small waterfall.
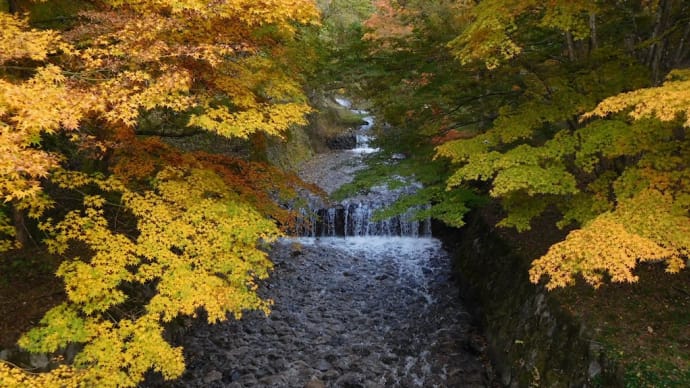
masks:
<svg viewBox="0 0 690 388"><path fill-rule="evenodd" d="M189 370L155 387L489 385L448 257L407 255L398 242L374 253L330 244L291 257L290 243L277 243L271 287L259 290L273 315L195 324L183 338Z"/></svg>

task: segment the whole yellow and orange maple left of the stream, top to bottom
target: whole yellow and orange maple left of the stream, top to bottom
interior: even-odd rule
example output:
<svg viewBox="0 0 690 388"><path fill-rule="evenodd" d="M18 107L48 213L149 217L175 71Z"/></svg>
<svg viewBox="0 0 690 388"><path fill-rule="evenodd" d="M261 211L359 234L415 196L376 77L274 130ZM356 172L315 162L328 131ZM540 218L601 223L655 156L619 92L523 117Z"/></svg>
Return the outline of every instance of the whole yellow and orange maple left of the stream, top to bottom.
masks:
<svg viewBox="0 0 690 388"><path fill-rule="evenodd" d="M291 215L267 203L294 200L299 182L271 184L283 174L135 132L155 111L225 137L304 124L285 49L317 17L307 0L113 0L59 31L0 12L0 248L21 243L12 213L34 219L65 258L67 291L20 344L83 345L73 365L45 374L0 364L3 385L135 386L149 370L172 379L184 360L165 323L268 310L255 292L271 268L261 245ZM81 205L56 209L60 192Z"/></svg>

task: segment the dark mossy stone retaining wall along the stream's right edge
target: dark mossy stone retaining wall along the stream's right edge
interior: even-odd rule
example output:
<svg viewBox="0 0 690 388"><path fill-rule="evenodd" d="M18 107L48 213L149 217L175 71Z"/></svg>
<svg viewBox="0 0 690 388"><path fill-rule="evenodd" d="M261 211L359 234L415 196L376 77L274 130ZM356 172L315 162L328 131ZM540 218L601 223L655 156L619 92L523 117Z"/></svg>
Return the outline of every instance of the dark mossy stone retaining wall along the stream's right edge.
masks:
<svg viewBox="0 0 690 388"><path fill-rule="evenodd" d="M529 260L516 255L478 212L462 229L434 226L454 256L461 297L486 335L495 373L509 387L621 385L605 376L601 346L553 294L529 282Z"/></svg>

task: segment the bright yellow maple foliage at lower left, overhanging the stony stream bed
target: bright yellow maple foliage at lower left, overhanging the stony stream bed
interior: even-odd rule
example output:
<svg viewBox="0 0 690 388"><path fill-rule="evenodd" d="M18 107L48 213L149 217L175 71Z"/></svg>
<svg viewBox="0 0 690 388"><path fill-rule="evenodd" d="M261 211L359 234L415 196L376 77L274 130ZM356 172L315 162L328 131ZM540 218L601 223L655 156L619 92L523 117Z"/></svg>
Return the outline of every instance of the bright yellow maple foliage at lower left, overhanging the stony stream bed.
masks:
<svg viewBox="0 0 690 388"><path fill-rule="evenodd" d="M168 379L179 377L182 352L163 339L164 322L201 310L209 322L225 320L229 313L240 318L247 309L268 312L271 302L256 294L256 281L268 276L272 264L258 245L273 240L278 230L239 201L215 173L169 167L157 174L153 190L142 193L113 178L81 173L62 173L56 182L120 193L118 206L136 216L138 232L136 237L114 232L104 214L109 204L98 195L85 196L83 210L43 225L52 235L51 251L65 253L79 241L93 252L62 263L57 274L65 281L68 301L20 340L23 347L42 352L70 342L85 344L74 373L59 384L136 386L149 368ZM126 312L126 318L113 323L113 314L126 311L131 297L124 284L154 287L155 295L143 311ZM50 374L58 379L63 373Z"/></svg>

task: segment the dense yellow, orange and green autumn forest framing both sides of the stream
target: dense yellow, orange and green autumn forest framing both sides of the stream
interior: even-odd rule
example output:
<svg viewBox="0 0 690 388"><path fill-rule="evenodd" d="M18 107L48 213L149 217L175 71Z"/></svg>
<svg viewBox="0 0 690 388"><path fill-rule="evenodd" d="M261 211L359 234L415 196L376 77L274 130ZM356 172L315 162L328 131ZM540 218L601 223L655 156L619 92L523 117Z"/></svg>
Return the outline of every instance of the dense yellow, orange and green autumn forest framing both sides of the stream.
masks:
<svg viewBox="0 0 690 388"><path fill-rule="evenodd" d="M0 2L0 251L47 252L66 300L19 345L82 344L5 386L136 386L184 369L164 336L271 307L265 246L301 190L267 144L342 91L385 125L344 190L424 184L384 213L460 227L497 203L548 289L635 282L690 253L690 4L682 0L92 0ZM311 115L311 116L310 116ZM153 123L153 124L152 124ZM233 155L185 151L191 133ZM395 163L382 163L390 160Z"/></svg>

